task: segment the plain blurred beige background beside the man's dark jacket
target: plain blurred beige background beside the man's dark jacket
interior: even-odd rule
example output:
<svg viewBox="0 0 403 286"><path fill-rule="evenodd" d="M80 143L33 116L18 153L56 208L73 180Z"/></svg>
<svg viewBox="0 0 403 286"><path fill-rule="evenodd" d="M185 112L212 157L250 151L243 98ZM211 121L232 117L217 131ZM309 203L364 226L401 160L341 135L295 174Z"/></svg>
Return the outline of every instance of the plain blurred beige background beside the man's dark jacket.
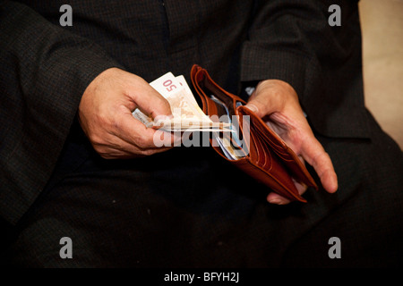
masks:
<svg viewBox="0 0 403 286"><path fill-rule="evenodd" d="M403 150L403 0L361 0L359 8L365 105Z"/></svg>

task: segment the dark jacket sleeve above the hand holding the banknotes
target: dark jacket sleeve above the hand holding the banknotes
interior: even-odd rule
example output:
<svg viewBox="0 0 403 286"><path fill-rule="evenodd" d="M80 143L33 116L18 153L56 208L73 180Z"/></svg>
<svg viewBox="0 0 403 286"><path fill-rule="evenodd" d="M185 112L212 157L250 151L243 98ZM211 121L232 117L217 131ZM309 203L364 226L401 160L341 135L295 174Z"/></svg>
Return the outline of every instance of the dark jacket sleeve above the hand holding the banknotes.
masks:
<svg viewBox="0 0 403 286"><path fill-rule="evenodd" d="M81 95L120 67L29 7L0 2L0 215L16 223L45 187Z"/></svg>

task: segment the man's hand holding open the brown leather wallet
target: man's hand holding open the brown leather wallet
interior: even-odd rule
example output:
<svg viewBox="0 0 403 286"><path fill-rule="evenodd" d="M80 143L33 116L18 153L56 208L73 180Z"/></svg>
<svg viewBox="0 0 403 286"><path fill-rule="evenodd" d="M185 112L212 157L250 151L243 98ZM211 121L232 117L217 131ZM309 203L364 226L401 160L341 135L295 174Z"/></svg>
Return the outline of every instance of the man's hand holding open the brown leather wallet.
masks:
<svg viewBox="0 0 403 286"><path fill-rule="evenodd" d="M315 139L294 88L282 80L263 80L254 90L246 107L267 122L301 161L313 166L324 189L330 193L338 189L338 180L330 156ZM296 189L303 194L306 186L295 183ZM267 200L279 205L289 203L287 198L274 192L268 195Z"/></svg>

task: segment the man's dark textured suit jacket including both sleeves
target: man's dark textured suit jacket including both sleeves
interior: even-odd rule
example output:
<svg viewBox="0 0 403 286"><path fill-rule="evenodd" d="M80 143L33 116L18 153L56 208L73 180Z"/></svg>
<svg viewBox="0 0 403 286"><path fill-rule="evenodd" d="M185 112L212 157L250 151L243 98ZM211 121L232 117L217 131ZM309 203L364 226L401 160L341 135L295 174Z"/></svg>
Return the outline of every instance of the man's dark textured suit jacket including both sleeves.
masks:
<svg viewBox="0 0 403 286"><path fill-rule="evenodd" d="M193 63L229 91L280 79L297 91L313 129L367 135L355 1L63 1L0 4L0 215L17 223L46 186L81 95L117 66L154 80L189 80ZM328 8L339 4L341 27ZM190 82L190 81L189 81Z"/></svg>

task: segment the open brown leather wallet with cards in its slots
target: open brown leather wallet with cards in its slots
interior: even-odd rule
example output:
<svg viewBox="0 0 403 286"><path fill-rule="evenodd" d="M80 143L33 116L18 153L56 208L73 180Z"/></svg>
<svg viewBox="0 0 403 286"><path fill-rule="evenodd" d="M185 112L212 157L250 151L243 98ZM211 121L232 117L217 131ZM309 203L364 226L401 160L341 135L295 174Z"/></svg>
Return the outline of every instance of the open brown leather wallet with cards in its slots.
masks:
<svg viewBox="0 0 403 286"><path fill-rule="evenodd" d="M239 150L246 148L243 156L228 159L223 149L215 141L217 138L211 138L211 146L217 153L279 195L291 201L306 202L299 195L293 179L315 189L318 187L294 151L287 147L279 135L270 130L261 118L244 107L246 102L242 98L220 88L201 66L193 65L191 79L193 87L201 97L202 110L205 114L210 117L216 115L215 117L219 118L227 113L231 118L237 118L238 130L242 133L239 136L243 139L247 136L244 132L249 130L249 144L245 144L244 148L239 148ZM249 121L243 120L245 115L249 116ZM248 124L248 126L244 124ZM246 141L244 140L244 142ZM231 142L236 146L234 139L231 138Z"/></svg>

